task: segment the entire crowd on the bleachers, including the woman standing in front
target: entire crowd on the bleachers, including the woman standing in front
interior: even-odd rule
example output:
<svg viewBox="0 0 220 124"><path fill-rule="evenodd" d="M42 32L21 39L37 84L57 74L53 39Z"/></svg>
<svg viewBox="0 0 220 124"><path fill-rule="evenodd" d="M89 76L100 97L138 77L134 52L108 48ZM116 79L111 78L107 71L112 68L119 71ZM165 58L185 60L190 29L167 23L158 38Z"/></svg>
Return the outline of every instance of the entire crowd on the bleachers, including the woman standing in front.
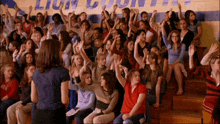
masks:
<svg viewBox="0 0 220 124"><path fill-rule="evenodd" d="M138 9L123 8L119 18L117 5L111 13L103 6L100 26L93 27L86 12L64 15L63 4L48 24L47 12L32 20L30 6L20 20L17 5L14 16L4 7L0 122L7 116L8 124L25 124L31 112L32 124L151 123L150 105L160 107L173 72L176 95L184 93L185 68L207 78L204 110L219 122L219 56L212 57L219 44L201 61L210 65L211 74L196 69L202 24L192 10L184 17L178 4L178 15L170 9L158 24L156 10L150 18L141 12L138 20ZM189 67L184 67L187 60ZM67 111L71 98L77 105Z"/></svg>

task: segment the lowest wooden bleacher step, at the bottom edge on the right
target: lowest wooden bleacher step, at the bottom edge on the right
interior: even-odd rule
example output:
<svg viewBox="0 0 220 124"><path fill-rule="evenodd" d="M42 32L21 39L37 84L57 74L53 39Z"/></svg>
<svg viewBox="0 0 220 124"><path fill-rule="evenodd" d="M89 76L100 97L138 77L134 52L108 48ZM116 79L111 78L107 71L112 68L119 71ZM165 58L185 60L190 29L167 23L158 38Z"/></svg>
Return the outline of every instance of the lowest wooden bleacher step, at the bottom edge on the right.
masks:
<svg viewBox="0 0 220 124"><path fill-rule="evenodd" d="M183 110L170 110L160 114L160 123L201 123L201 112L183 111Z"/></svg>

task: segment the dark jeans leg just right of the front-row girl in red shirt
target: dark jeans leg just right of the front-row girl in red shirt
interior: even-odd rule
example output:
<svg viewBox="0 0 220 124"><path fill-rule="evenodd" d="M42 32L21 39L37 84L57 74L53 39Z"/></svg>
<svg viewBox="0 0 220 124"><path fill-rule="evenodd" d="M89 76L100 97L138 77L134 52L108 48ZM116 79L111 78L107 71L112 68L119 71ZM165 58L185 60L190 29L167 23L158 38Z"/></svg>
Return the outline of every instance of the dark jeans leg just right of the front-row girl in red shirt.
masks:
<svg viewBox="0 0 220 124"><path fill-rule="evenodd" d="M147 107L147 122L151 123L151 116L150 116L150 105L156 103L156 95L153 95L152 90L147 90L148 96L146 101L146 107Z"/></svg>

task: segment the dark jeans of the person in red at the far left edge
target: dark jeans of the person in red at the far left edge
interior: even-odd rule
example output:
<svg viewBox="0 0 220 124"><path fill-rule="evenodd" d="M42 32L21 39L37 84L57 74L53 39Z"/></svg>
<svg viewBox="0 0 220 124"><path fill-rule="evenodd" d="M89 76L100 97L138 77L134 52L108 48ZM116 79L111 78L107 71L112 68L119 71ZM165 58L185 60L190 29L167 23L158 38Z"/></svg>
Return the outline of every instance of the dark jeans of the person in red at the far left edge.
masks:
<svg viewBox="0 0 220 124"><path fill-rule="evenodd" d="M8 99L0 102L0 122L6 116L6 110L9 106L17 102L17 100Z"/></svg>

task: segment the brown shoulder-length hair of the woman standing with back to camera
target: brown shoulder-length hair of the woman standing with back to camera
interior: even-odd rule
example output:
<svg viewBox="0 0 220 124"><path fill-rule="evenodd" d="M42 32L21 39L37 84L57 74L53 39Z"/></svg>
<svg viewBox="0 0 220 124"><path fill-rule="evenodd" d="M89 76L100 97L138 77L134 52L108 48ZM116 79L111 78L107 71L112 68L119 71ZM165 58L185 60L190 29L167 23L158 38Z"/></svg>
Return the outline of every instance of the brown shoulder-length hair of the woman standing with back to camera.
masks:
<svg viewBox="0 0 220 124"><path fill-rule="evenodd" d="M61 62L60 42L53 39L43 41L37 58L37 69L40 72L47 72L52 67L60 66Z"/></svg>

